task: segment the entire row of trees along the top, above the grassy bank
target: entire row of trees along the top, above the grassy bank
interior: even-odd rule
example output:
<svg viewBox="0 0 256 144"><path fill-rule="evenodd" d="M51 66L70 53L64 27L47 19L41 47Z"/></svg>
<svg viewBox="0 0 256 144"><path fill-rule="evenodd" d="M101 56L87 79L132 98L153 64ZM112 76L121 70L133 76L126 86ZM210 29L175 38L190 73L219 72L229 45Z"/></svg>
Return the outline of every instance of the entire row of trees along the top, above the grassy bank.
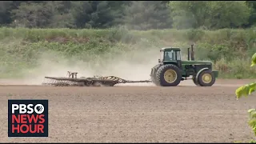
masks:
<svg viewBox="0 0 256 144"><path fill-rule="evenodd" d="M1 1L0 25L132 30L248 28L256 1Z"/></svg>

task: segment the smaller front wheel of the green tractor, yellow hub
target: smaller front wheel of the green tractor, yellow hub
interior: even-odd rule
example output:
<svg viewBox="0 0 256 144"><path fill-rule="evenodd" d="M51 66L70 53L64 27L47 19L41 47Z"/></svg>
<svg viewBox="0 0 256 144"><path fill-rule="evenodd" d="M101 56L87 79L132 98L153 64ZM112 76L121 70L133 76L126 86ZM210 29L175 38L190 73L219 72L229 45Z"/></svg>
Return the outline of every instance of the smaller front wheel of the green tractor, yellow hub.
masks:
<svg viewBox="0 0 256 144"><path fill-rule="evenodd" d="M206 82L206 80L203 79L204 75L210 76L210 80ZM199 75L198 75L198 84L200 86L213 86L215 83L215 76L214 73L211 70L203 70Z"/></svg>

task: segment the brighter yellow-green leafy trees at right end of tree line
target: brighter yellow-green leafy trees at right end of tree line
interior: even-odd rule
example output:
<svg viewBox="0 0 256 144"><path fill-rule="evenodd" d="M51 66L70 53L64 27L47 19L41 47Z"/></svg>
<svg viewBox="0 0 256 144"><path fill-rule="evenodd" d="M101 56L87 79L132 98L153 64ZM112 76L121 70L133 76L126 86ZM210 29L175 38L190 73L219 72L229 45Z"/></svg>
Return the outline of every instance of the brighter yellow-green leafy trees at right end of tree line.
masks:
<svg viewBox="0 0 256 144"><path fill-rule="evenodd" d="M247 24L250 17L245 1L171 1L169 7L178 29L239 27Z"/></svg>

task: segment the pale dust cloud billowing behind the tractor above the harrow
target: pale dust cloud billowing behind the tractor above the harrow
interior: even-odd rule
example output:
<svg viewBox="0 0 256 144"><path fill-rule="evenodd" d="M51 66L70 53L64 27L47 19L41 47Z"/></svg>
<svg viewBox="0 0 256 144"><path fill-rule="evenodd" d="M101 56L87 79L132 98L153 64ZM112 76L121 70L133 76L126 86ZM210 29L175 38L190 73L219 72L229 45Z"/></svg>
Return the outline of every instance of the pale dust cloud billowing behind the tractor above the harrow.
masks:
<svg viewBox="0 0 256 144"><path fill-rule="evenodd" d="M158 63L159 49L135 50L130 53L113 55L113 58L102 59L101 65L93 60L62 58L62 55L53 52L42 54L38 58L39 66L28 71L28 74L19 80L2 81L5 85L42 85L45 77L67 77L67 71L78 72L80 77L116 76L126 80L149 80L150 70ZM111 59L111 60L110 60ZM118 86L154 86L152 83L118 84Z"/></svg>

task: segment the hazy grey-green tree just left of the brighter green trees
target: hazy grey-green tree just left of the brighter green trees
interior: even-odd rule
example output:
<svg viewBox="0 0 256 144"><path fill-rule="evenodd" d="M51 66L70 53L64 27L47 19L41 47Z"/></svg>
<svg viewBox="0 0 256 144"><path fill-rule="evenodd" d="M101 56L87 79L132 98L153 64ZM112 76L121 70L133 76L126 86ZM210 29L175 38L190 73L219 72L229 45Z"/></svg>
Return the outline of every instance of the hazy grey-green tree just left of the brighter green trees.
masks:
<svg viewBox="0 0 256 144"><path fill-rule="evenodd" d="M171 27L170 13L163 1L131 2L125 9L124 23L136 30Z"/></svg>

